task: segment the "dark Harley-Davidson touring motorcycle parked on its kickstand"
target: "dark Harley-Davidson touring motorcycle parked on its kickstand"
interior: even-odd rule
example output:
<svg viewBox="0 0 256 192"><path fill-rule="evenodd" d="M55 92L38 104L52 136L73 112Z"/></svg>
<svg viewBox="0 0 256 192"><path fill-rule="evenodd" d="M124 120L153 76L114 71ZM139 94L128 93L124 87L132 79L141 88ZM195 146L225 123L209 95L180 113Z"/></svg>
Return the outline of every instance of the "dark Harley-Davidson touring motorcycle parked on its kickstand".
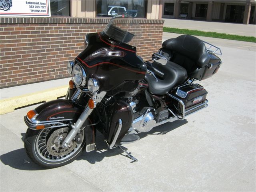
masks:
<svg viewBox="0 0 256 192"><path fill-rule="evenodd" d="M215 74L219 48L189 35L166 40L152 60L136 54L142 30L137 20L117 14L100 33L85 37L85 48L67 71L65 99L46 102L24 117L25 150L46 168L66 165L85 149L95 150L96 130L109 149L136 142L140 133L206 108L206 89L194 83ZM90 154L88 154L90 155Z"/></svg>

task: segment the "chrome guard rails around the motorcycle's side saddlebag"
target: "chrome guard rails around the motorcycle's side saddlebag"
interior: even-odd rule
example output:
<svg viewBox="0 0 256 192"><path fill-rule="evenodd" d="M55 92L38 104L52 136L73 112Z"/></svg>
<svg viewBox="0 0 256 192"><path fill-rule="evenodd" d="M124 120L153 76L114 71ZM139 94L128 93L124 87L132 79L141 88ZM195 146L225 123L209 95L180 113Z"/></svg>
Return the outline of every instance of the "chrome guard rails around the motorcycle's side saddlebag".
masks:
<svg viewBox="0 0 256 192"><path fill-rule="evenodd" d="M207 104L207 103L208 103L208 100L206 99L203 103L201 103L201 104L199 104L199 105L196 105L196 106L194 106L194 107L192 107L192 108L186 110L186 109L185 109L185 104L184 104L184 102L183 102L182 100L180 100L179 98L177 98L177 97L175 97L175 96L173 96L172 94L169 94L169 93L168 93L168 96L174 98L175 100L177 100L177 101L182 105L182 116L179 117L179 116L175 115L175 114L171 111L171 113L172 113L176 118L178 118L179 120L184 120L184 118L185 118L186 116L191 115L191 114L193 114L193 113L195 113L195 112L198 112L199 110L204 109L204 108L206 108L206 107L208 106L208 104ZM189 112L190 112L190 113L189 113Z"/></svg>

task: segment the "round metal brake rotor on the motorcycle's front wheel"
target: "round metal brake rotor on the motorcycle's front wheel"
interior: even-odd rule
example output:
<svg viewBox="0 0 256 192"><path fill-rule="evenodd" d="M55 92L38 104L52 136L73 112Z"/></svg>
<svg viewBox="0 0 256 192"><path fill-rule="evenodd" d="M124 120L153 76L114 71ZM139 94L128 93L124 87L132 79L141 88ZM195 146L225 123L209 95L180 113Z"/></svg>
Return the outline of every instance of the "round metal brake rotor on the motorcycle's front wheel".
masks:
<svg viewBox="0 0 256 192"><path fill-rule="evenodd" d="M66 147L66 148L61 147L62 142L68 135L68 131L69 131L68 127L57 129L48 138L46 148L51 155L56 157L65 156L70 152L72 152L74 148L76 148L76 145L77 145L76 140L72 140L72 142L70 143L70 147Z"/></svg>

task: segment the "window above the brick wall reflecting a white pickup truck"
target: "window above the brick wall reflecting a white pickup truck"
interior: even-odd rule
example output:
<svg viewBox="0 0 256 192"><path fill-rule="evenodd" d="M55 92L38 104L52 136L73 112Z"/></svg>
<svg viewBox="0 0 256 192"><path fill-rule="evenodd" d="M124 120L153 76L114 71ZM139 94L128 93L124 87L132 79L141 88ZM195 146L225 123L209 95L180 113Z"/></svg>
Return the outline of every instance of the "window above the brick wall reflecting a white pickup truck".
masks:
<svg viewBox="0 0 256 192"><path fill-rule="evenodd" d="M132 17L146 17L146 0L96 0L98 17L112 17L117 13L126 12Z"/></svg>

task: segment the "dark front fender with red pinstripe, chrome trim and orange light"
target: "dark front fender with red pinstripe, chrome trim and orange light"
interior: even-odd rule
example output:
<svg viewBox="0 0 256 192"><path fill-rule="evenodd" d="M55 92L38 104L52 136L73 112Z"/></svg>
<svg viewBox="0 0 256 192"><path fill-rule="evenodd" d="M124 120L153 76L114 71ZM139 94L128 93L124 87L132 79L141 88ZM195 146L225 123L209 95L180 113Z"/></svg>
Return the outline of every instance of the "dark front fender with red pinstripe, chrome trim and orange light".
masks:
<svg viewBox="0 0 256 192"><path fill-rule="evenodd" d="M46 102L35 108L34 111L36 116L32 120L24 116L26 125L32 130L70 127L70 123L74 124L82 113L80 106L67 99ZM90 118L86 120L86 124L92 124ZM90 152L95 148L96 130L94 126L86 126L84 132L86 151Z"/></svg>

